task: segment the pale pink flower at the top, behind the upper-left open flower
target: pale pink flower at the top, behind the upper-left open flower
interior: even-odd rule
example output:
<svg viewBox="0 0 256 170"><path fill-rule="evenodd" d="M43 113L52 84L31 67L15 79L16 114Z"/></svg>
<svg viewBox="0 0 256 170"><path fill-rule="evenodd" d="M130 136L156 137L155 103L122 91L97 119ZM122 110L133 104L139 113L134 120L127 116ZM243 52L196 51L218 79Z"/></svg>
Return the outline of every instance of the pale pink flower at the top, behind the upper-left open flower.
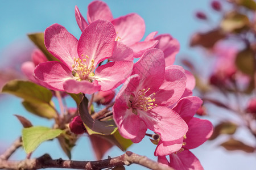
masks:
<svg viewBox="0 0 256 170"><path fill-rule="evenodd" d="M81 15L77 6L75 7L75 16L81 31L84 31L88 23L90 24L97 19L104 19L112 22L117 33L115 37L117 47L126 48L127 51L129 50L133 53L132 56L126 57L126 60L131 61L133 57L141 57L147 49L154 48L158 42L156 40L139 42L145 33L145 23L141 16L138 14L128 14L114 19L110 8L102 1L93 1L89 4L87 12L88 23ZM115 59L117 58L112 57L110 59L116 61Z"/></svg>

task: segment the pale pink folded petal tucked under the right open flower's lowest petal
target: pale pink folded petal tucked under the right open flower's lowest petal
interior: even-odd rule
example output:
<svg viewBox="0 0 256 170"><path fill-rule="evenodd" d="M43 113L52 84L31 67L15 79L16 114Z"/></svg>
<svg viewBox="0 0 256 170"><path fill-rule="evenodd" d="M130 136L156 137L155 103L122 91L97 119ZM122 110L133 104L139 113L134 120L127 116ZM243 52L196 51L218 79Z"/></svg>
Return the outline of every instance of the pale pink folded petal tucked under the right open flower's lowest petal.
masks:
<svg viewBox="0 0 256 170"><path fill-rule="evenodd" d="M176 151L179 151L182 147L183 137L175 141L159 141L158 146L155 149L155 156L165 156L170 155Z"/></svg>

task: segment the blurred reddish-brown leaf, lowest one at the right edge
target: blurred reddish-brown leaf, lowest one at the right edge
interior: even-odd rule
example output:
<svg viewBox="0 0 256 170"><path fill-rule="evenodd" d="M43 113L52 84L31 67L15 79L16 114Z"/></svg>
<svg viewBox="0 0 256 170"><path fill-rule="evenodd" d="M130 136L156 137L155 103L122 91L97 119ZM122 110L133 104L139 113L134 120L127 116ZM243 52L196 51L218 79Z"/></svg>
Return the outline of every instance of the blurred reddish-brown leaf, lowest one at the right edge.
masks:
<svg viewBox="0 0 256 170"><path fill-rule="evenodd" d="M232 138L229 139L229 141L222 143L221 146L223 146L226 150L229 150L229 151L241 150L247 153L253 153L255 150L254 147L245 145L245 143L241 141L237 141L236 139L232 139Z"/></svg>

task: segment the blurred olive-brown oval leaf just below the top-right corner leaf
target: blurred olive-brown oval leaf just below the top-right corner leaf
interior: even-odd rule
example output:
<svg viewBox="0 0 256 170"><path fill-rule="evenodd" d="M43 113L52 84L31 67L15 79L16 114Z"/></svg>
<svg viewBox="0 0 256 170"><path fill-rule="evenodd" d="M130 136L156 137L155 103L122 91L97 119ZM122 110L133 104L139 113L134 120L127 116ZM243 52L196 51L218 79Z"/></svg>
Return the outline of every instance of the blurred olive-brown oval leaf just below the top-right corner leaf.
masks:
<svg viewBox="0 0 256 170"><path fill-rule="evenodd" d="M249 28L250 21L246 15L236 11L229 12L221 21L221 28L225 32L239 33L244 29Z"/></svg>

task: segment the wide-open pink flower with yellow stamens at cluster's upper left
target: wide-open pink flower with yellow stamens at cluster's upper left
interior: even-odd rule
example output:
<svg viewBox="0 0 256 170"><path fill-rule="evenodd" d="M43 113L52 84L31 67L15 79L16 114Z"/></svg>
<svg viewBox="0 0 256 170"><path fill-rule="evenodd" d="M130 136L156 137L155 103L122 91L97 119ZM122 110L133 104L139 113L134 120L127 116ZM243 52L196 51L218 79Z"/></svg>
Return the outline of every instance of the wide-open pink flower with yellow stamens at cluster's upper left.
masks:
<svg viewBox="0 0 256 170"><path fill-rule="evenodd" d="M133 62L109 62L97 67L112 56L115 36L113 24L106 20L90 23L79 41L63 26L51 25L44 32L45 45L61 62L40 63L34 70L36 80L51 90L74 94L118 87L130 75Z"/></svg>

